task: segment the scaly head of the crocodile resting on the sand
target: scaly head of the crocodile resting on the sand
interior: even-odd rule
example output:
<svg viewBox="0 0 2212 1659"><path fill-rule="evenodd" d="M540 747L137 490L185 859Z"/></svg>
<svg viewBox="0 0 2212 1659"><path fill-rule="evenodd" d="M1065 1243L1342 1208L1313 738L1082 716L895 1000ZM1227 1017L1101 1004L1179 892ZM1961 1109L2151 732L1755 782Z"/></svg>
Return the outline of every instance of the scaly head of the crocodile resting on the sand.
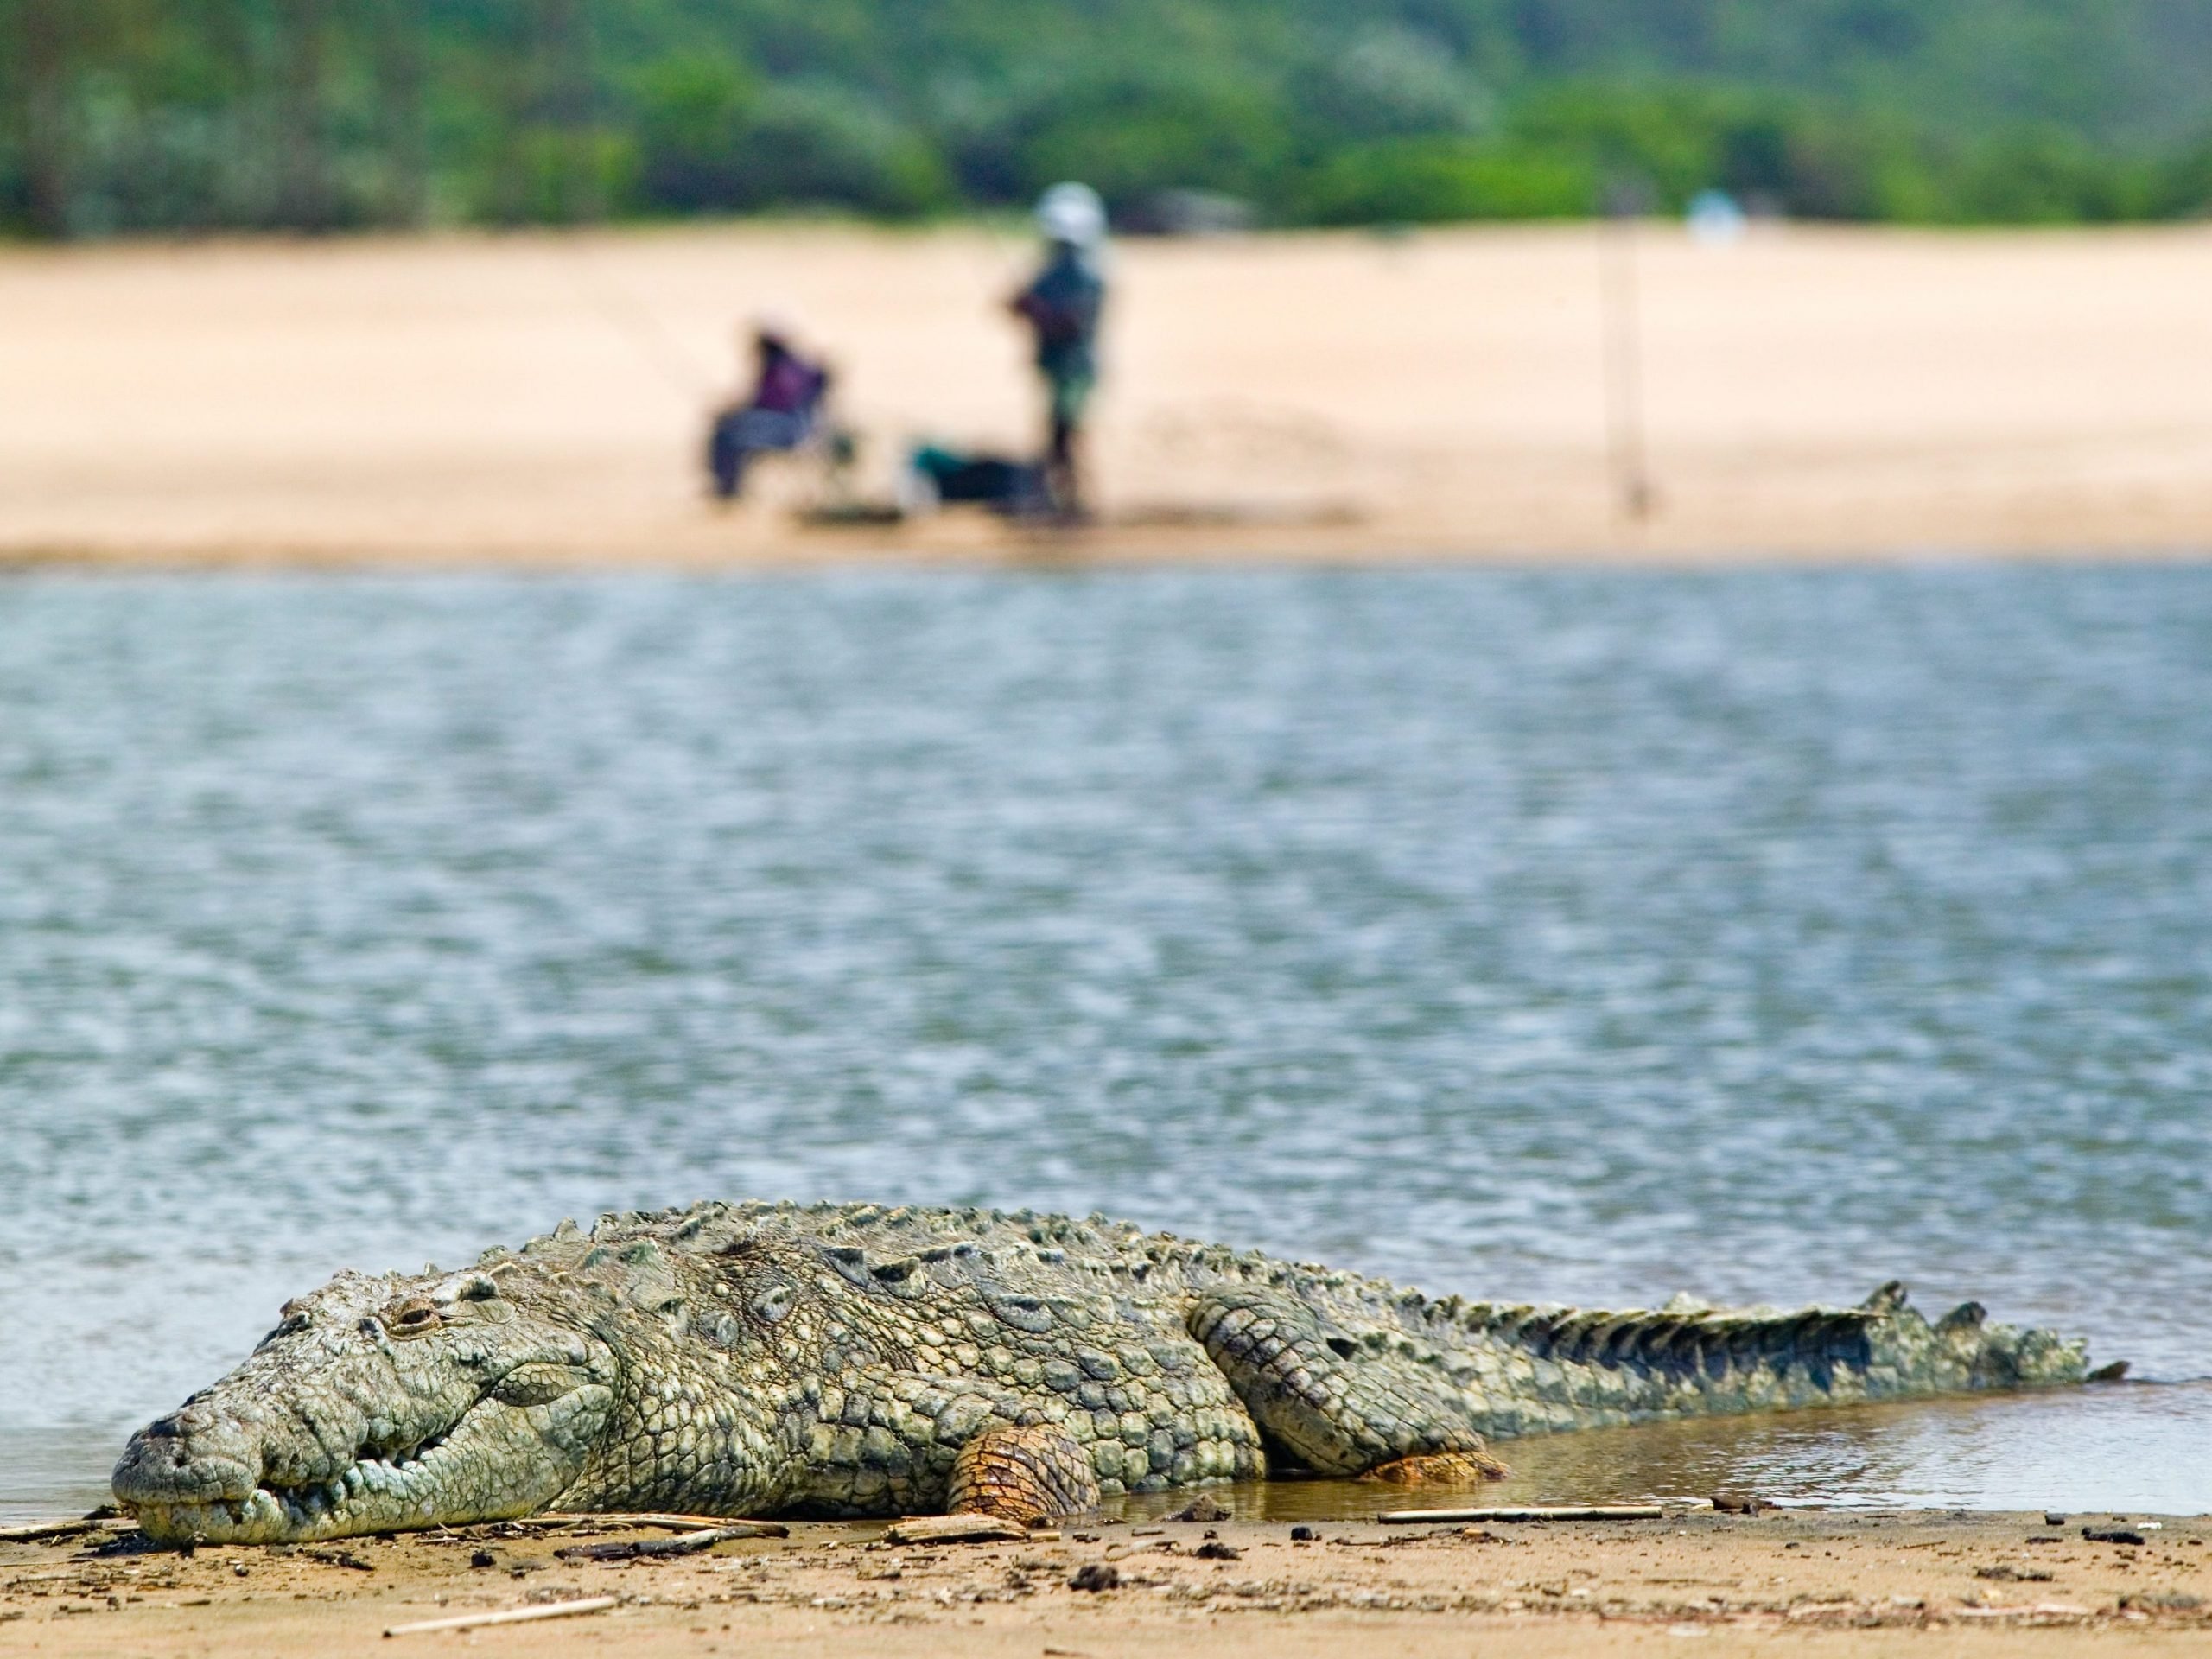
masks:
<svg viewBox="0 0 2212 1659"><path fill-rule="evenodd" d="M288 1303L237 1371L131 1438L115 1498L153 1540L210 1544L542 1509L606 1431L615 1358L502 1267L341 1274Z"/></svg>

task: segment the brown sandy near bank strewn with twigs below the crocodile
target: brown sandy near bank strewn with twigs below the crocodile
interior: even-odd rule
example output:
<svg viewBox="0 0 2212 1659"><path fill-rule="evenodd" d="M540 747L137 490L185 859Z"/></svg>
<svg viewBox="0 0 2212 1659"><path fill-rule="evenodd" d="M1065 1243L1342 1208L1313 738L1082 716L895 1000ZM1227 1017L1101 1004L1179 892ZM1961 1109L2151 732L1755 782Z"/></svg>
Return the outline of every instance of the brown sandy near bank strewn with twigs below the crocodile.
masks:
<svg viewBox="0 0 2212 1659"><path fill-rule="evenodd" d="M1422 1500L1429 1502L1429 1500ZM2135 1544L2044 1515L1765 1511L1482 1526L1064 1524L1011 1544L894 1546L794 1524L655 1562L562 1548L648 1528L467 1528L303 1548L0 1544L0 1652L288 1655L1537 1655L2203 1652L2212 1522ZM1113 1566L1108 1590L1071 1588ZM602 1613L385 1639L392 1626L615 1597ZM1697 1644L1683 1648L1681 1644Z"/></svg>

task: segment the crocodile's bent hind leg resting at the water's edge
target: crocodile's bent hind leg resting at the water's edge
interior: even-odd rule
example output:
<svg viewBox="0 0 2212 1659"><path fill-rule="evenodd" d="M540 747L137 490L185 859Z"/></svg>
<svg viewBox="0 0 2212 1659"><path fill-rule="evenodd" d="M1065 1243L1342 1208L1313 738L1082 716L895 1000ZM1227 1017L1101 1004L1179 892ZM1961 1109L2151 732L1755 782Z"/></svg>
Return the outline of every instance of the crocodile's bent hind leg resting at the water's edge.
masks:
<svg viewBox="0 0 2212 1659"><path fill-rule="evenodd" d="M1500 1478L1473 1402L1402 1345L1380 1349L1274 1290L1208 1292L1190 1334L1261 1433L1325 1475L1464 1482Z"/></svg>

